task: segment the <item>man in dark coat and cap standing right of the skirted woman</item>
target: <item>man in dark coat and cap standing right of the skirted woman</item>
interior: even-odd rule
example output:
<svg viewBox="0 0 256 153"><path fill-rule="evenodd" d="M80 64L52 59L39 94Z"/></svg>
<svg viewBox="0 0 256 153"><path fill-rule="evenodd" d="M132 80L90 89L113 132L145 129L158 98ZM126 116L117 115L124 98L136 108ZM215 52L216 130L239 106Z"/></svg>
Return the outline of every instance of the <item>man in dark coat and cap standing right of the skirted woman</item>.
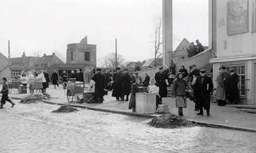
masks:
<svg viewBox="0 0 256 153"><path fill-rule="evenodd" d="M194 86L195 98L197 99L198 108L200 110L197 115L203 115L203 108L206 109L207 116L210 116L210 93L213 89L212 80L205 75L205 70L200 69L200 76L196 80Z"/></svg>

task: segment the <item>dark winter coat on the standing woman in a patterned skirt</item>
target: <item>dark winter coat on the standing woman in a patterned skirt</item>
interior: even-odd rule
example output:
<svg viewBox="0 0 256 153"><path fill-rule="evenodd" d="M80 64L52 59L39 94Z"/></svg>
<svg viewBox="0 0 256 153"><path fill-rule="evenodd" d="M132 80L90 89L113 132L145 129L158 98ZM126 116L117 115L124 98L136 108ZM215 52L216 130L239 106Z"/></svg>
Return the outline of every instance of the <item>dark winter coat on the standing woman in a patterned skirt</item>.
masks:
<svg viewBox="0 0 256 153"><path fill-rule="evenodd" d="M172 82L172 95L173 96L186 96L186 87L188 84L184 79L175 79Z"/></svg>

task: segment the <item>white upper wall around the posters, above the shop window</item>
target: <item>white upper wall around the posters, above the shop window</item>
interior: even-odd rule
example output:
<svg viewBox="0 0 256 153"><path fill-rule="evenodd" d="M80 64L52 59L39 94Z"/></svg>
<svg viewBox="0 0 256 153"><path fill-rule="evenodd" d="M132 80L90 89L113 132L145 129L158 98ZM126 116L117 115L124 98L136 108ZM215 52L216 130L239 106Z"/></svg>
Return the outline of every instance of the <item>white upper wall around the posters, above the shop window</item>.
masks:
<svg viewBox="0 0 256 153"><path fill-rule="evenodd" d="M248 29L247 33L228 36L227 0L217 1L217 58L241 54L256 54L256 33L251 33L252 0L248 0ZM226 50L224 50L225 40L227 42Z"/></svg>

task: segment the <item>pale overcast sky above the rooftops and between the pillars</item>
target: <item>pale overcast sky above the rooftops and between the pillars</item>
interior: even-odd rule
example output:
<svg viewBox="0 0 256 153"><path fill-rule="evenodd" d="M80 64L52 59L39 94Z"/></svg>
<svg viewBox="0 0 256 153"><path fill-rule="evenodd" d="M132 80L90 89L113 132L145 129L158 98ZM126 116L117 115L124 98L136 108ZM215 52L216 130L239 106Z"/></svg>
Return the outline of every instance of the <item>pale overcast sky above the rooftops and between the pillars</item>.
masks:
<svg viewBox="0 0 256 153"><path fill-rule="evenodd" d="M208 1L173 0L174 49L185 37L208 45ZM0 2L0 51L11 57L52 54L88 36L97 59L115 51L127 61L154 56L155 20L162 0L8 0ZM99 64L99 62L98 62Z"/></svg>

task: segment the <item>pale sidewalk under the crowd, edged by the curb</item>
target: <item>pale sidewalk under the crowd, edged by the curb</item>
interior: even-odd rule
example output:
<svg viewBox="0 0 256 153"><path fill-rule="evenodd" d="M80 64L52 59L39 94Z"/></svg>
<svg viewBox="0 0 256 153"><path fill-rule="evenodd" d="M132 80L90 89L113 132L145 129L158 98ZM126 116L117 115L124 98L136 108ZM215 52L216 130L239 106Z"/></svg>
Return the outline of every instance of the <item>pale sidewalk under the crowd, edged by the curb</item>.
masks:
<svg viewBox="0 0 256 153"><path fill-rule="evenodd" d="M161 114L139 114L133 113L132 110L128 109L129 102L119 102L111 96L112 92L108 92L107 96L104 96L105 101L101 104L99 103L68 103L66 95L64 95L64 90L62 86L54 89L53 86L47 89L47 93L52 96L53 99L46 100L46 103L59 104L59 105L72 105L75 107L88 108L94 110L102 110L113 113L121 113L128 115L137 115L144 117L154 117L160 116ZM30 94L10 94L9 96L13 99L24 98ZM170 113L178 115L178 110L175 108L175 99L164 98L163 103L167 104L170 109ZM256 114L250 114L238 110L232 107L219 107L217 103L211 103L210 114L211 116L196 115L197 112L194 111L195 104L188 100L188 108L184 108L183 114L185 119L196 121L199 124L210 124L211 126L224 127L237 130L254 131L256 132Z"/></svg>

